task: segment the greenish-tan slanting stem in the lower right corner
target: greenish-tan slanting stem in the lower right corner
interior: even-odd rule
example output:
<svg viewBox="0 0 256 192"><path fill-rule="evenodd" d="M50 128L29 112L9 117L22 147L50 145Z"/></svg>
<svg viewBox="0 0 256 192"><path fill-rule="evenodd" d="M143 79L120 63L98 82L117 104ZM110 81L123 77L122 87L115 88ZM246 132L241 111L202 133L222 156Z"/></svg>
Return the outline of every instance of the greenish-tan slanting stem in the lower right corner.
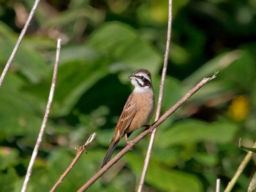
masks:
<svg viewBox="0 0 256 192"><path fill-rule="evenodd" d="M241 140L239 140L239 145L241 145ZM256 147L256 142L254 145L252 145L253 148ZM236 170L236 173L234 174L233 178L230 180L230 183L228 183L227 188L225 188L224 192L230 192L234 185L236 184L236 181L238 180L238 177L240 174L244 171L246 165L249 163L253 155L252 151L249 151L247 155L245 156L244 160L241 162L241 164L238 166L238 169Z"/></svg>

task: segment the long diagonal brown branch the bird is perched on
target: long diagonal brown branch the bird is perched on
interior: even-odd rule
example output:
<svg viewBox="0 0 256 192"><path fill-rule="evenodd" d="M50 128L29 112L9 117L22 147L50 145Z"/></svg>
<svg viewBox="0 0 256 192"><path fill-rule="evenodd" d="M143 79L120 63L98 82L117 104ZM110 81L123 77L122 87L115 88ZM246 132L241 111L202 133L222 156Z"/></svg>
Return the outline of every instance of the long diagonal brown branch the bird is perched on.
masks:
<svg viewBox="0 0 256 192"><path fill-rule="evenodd" d="M164 115L162 115L159 120L157 120L156 122L154 122L151 125L151 128L157 128L162 122L164 122L171 114L173 114L173 112L175 112L178 107L181 107L182 104L184 104L184 102L186 102L193 94L195 94L200 88L203 87L203 85L206 85L207 82L209 82L210 80L213 80L216 77L215 73L212 77L208 77L208 78L203 78L203 80L201 80L197 85L195 85L194 88L192 88L189 93L187 93L181 100L179 100L175 105L173 105L173 107L171 107L169 110L167 110L167 112L165 112ZM121 150L121 152L119 152L114 158L112 158L110 161L108 161L108 164L106 164L105 166L102 167L102 169L99 170L99 172L97 172L97 174L94 174L93 177L91 177L91 179L89 181L87 181L87 183L85 183L79 190L78 192L82 192L82 191L86 191L86 189L88 189L95 181L97 181L99 179L100 176L102 176L102 174L104 174L109 168L110 166L113 166L113 164L116 164L116 162L125 155L125 153L127 153L129 150L131 150L131 148L136 145L138 142L140 142L141 139L143 139L144 137L146 137L147 134L149 134L151 132L151 128L148 128L146 131L143 131L138 137L136 137L134 140L132 140L131 142L129 142L129 145L127 145L126 147L124 147L123 150Z"/></svg>

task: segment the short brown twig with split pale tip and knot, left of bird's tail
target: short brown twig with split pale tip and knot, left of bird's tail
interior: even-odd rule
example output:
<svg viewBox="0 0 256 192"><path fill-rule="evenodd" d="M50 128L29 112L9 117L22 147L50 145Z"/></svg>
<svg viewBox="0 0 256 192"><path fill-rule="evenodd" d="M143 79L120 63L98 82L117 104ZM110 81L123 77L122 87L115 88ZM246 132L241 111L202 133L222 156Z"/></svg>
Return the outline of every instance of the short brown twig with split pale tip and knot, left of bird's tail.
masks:
<svg viewBox="0 0 256 192"><path fill-rule="evenodd" d="M87 142L82 145L81 147L79 147L78 153L75 155L75 158L73 159L73 161L71 162L71 164L67 167L67 169L65 170L65 172L63 174L61 174L61 177L59 178L59 180L55 183L55 185L53 186L53 188L50 189L50 192L56 191L56 188L58 188L59 185L61 185L62 181L64 180L64 178L67 176L67 174L71 171L71 169L75 166L75 164L78 162L78 159L80 158L80 156L83 154L84 151L86 151L86 148L89 146L89 144L92 142L92 140L96 137L96 133L93 133L90 135L89 139L87 140Z"/></svg>

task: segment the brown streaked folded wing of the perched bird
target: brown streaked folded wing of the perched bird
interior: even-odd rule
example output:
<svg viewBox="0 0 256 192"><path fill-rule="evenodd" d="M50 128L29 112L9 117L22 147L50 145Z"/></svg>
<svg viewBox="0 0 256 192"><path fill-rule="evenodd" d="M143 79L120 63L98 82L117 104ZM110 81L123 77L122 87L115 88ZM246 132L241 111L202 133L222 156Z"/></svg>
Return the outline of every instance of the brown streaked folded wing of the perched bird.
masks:
<svg viewBox="0 0 256 192"><path fill-rule="evenodd" d="M135 117L135 114L138 110L135 104L131 101L132 101L132 98L129 97L129 99L127 100L127 103L124 105L124 110L121 113L118 123L116 125L116 131L119 131L118 139L121 139L122 137L124 137L125 130L132 123L132 120Z"/></svg>

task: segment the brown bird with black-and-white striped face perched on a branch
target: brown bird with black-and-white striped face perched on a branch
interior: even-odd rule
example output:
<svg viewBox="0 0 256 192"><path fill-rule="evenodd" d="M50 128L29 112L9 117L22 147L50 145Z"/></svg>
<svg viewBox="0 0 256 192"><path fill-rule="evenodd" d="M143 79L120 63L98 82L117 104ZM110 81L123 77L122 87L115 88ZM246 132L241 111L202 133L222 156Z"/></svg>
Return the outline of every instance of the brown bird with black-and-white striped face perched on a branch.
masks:
<svg viewBox="0 0 256 192"><path fill-rule="evenodd" d="M125 137L128 144L129 135L136 129L147 126L154 114L155 101L151 73L147 69L138 69L129 76L129 79L135 88L124 104L124 109L116 124L115 134L101 167L110 161L120 139Z"/></svg>

